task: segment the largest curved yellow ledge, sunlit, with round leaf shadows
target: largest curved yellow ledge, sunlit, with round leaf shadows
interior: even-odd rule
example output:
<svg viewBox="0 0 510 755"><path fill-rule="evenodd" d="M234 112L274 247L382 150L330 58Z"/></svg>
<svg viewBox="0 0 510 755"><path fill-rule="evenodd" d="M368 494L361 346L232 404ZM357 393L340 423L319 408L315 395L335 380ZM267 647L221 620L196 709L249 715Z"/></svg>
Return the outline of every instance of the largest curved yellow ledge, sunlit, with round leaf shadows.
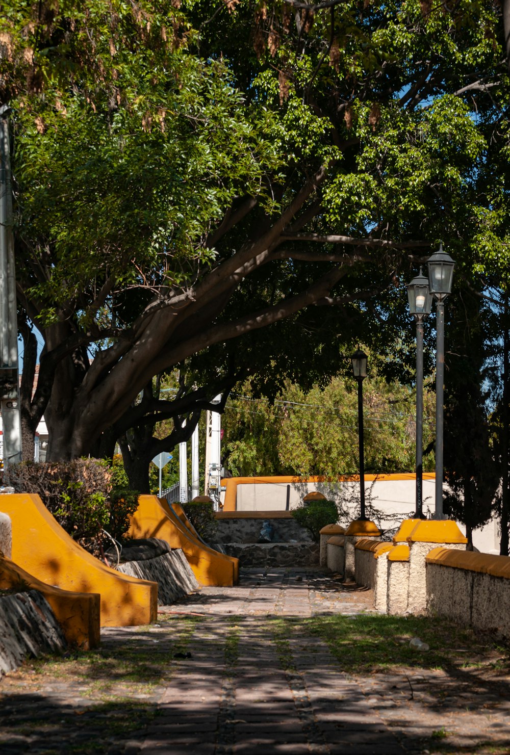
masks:
<svg viewBox="0 0 510 755"><path fill-rule="evenodd" d="M100 593L102 627L131 627L156 620L156 582L128 577L95 559L60 527L39 495L1 495L0 510L11 517L14 563L62 590Z"/></svg>

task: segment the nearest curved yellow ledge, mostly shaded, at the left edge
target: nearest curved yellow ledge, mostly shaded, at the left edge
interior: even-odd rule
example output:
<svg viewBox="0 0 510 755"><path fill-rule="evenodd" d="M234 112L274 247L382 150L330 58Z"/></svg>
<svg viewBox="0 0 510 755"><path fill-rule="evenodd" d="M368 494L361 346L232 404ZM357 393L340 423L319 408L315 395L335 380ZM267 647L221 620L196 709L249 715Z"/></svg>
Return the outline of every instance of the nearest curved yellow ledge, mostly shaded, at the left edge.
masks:
<svg viewBox="0 0 510 755"><path fill-rule="evenodd" d="M0 557L0 590L38 590L51 606L67 643L82 650L100 643L100 596L98 593L70 593L32 577L10 559Z"/></svg>

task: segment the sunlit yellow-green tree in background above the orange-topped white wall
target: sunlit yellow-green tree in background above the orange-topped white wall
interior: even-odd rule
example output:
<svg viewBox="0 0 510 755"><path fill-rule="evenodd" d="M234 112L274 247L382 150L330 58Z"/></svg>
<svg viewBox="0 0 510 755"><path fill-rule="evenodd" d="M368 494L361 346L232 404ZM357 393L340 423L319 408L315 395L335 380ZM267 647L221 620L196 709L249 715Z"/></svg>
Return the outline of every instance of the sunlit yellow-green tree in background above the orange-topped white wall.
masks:
<svg viewBox="0 0 510 755"><path fill-rule="evenodd" d="M236 475L355 474L357 392L351 378L335 377L304 393L287 385L270 405L248 395L228 402L224 414L224 463ZM388 384L371 370L363 384L365 467L370 473L413 470L416 424L411 390ZM433 401L425 392L425 442L434 432ZM434 458L425 458L433 469Z"/></svg>

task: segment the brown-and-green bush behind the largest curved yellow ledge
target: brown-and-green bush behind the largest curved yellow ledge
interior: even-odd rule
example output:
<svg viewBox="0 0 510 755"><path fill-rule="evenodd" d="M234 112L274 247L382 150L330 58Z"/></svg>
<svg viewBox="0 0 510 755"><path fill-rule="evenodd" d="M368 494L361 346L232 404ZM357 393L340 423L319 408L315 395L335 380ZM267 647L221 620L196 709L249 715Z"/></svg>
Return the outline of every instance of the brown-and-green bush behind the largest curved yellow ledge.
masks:
<svg viewBox="0 0 510 755"><path fill-rule="evenodd" d="M108 540L103 530L122 539L138 506L138 492L112 488L112 476L100 459L23 461L9 467L14 490L39 495L68 535L94 555Z"/></svg>

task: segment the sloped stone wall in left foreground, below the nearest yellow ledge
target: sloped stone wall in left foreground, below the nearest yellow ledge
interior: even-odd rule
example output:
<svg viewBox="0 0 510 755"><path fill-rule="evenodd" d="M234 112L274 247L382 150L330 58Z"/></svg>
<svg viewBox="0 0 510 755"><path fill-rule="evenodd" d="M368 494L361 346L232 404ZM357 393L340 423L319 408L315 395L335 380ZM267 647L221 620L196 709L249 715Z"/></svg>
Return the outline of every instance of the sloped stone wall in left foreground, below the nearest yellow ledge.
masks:
<svg viewBox="0 0 510 755"><path fill-rule="evenodd" d="M41 593L0 597L0 674L13 671L26 658L65 648L60 625Z"/></svg>

